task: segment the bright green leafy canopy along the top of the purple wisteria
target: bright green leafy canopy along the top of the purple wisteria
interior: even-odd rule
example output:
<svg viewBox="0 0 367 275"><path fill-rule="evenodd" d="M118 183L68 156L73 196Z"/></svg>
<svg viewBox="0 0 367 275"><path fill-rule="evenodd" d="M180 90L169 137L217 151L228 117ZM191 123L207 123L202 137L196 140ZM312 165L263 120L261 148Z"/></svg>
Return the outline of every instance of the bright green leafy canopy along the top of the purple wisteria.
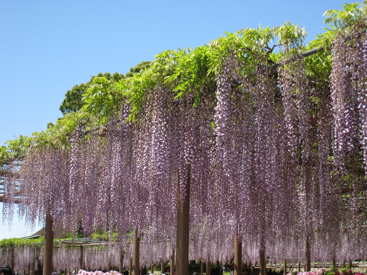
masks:
<svg viewBox="0 0 367 275"><path fill-rule="evenodd" d="M363 5L344 4L342 10L325 12L325 23L330 29L324 34L316 35L308 45L304 41L305 28L292 25L290 22L282 26L241 29L236 33L225 33L218 39L195 49L167 50L156 55L154 61L143 61L130 72L123 74L99 73L91 77L85 84L75 85L65 94L60 110L64 114L55 124L48 124L46 131L34 132L32 137L19 136L8 141L8 146L0 147L0 163L5 164L10 159L24 154L30 145L68 147L68 137L74 131L77 123L81 122L84 130L95 128L108 122L111 117L119 117L121 104L130 104L131 113L127 121L133 122L136 115L144 108L146 92L156 85L172 85L176 91L175 98L190 94L194 98L194 106L200 102L204 92L215 92L216 75L223 64L221 56L235 50L250 74L256 68L256 55L264 55L269 66L279 62L283 57L280 48L276 46L297 44L297 52L312 48L324 47L325 51L305 58L306 73L315 80L316 85L328 87L331 71L330 48L331 42L338 31L348 32L353 25L366 20L366 2ZM277 44L275 44L277 43ZM273 45L273 46L272 46ZM272 46L272 47L271 47ZM172 100L175 100L172 98Z"/></svg>

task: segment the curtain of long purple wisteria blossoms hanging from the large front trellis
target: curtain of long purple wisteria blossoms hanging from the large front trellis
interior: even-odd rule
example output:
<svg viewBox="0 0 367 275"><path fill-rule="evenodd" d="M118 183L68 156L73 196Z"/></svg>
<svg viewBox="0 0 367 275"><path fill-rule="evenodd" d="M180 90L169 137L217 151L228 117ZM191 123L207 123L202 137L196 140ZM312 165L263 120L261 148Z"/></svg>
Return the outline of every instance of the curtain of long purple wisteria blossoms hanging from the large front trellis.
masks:
<svg viewBox="0 0 367 275"><path fill-rule="evenodd" d="M125 123L124 102L105 138L84 136L80 123L70 150L29 148L17 180L20 213L32 225L50 208L70 232L81 214L84 234L116 231L126 250L136 230L144 234L141 264L157 261L158 251L167 261L190 169L190 258L226 262L235 234L244 262L257 262L261 249L304 257L307 238L314 261L366 258L366 33L357 26L351 37L338 34L330 87L307 77L298 46L282 50L275 72L265 52L230 48L214 88L176 97L158 76L134 122ZM15 194L11 179L6 185Z"/></svg>

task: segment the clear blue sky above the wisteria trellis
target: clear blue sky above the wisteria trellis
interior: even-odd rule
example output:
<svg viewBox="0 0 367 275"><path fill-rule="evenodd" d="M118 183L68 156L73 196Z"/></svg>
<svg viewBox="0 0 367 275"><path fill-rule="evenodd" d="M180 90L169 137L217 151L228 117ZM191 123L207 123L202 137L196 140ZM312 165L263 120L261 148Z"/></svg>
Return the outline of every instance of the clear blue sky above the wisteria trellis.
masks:
<svg viewBox="0 0 367 275"><path fill-rule="evenodd" d="M14 134L45 130L48 122L62 116L59 106L65 92L87 82L90 75L126 74L160 51L193 48L224 31L260 23L270 27L299 23L306 26L308 42L323 32L323 13L341 9L344 2L3 0L0 145ZM7 226L0 223L0 239L9 237L6 232Z"/></svg>

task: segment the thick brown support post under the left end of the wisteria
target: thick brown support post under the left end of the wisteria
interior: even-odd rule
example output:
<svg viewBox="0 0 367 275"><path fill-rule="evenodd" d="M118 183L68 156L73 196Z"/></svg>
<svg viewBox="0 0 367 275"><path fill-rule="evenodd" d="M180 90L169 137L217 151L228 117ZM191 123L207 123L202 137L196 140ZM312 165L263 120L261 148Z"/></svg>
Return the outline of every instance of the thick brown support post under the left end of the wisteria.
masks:
<svg viewBox="0 0 367 275"><path fill-rule="evenodd" d="M45 244L43 252L43 275L52 274L52 254L54 252L54 231L52 230L54 221L51 218L50 209L46 213Z"/></svg>

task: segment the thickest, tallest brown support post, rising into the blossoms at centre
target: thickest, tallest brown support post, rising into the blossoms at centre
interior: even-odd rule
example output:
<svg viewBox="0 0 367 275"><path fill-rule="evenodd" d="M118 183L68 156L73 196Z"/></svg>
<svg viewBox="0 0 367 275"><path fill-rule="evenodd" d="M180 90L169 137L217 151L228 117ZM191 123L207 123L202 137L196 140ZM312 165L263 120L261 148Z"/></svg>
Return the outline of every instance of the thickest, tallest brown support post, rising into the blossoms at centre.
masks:
<svg viewBox="0 0 367 275"><path fill-rule="evenodd" d="M186 197L184 199L181 198L180 182L178 180L176 275L189 274L190 178L191 167L189 166L186 183Z"/></svg>

